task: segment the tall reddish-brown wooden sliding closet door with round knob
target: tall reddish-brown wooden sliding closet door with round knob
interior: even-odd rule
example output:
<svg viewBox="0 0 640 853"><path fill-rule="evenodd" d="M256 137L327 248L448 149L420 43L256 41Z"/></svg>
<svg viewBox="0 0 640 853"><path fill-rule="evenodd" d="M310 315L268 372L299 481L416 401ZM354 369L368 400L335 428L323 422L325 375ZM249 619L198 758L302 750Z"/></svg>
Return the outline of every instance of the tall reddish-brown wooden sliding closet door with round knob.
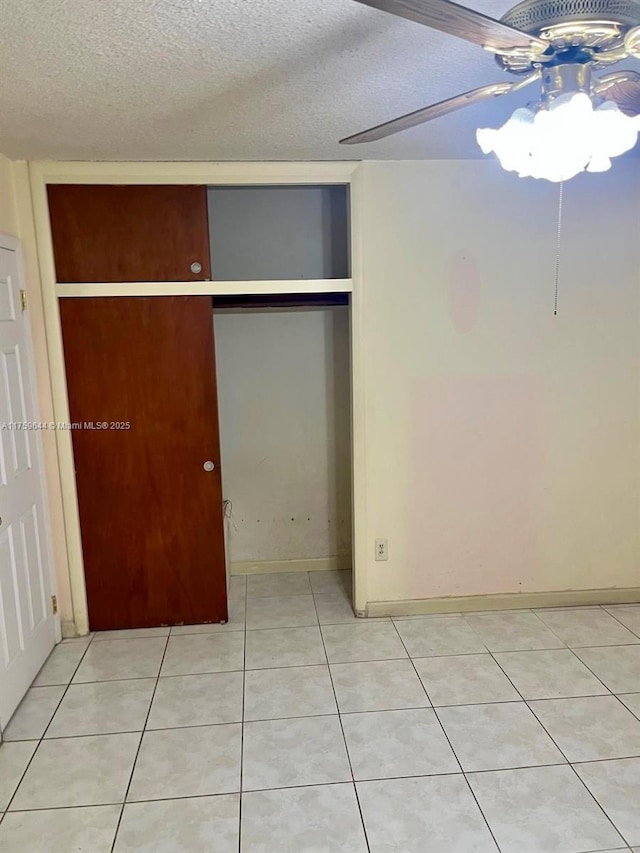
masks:
<svg viewBox="0 0 640 853"><path fill-rule="evenodd" d="M60 314L90 627L226 620L211 297Z"/></svg>

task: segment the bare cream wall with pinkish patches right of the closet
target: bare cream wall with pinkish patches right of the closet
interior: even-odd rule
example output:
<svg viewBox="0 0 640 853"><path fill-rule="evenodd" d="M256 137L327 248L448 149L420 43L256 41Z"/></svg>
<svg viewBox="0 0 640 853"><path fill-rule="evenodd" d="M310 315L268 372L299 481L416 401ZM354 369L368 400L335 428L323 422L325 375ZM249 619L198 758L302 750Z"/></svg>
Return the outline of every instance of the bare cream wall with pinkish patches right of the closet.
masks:
<svg viewBox="0 0 640 853"><path fill-rule="evenodd" d="M637 161L361 169L367 599L640 586Z"/></svg>

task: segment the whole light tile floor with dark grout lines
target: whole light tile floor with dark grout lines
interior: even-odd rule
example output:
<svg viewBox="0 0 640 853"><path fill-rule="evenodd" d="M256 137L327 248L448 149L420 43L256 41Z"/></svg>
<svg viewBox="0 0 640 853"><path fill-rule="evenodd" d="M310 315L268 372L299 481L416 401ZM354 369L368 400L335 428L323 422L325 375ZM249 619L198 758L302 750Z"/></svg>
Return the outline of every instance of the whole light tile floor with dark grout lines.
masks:
<svg viewBox="0 0 640 853"><path fill-rule="evenodd" d="M358 620L346 572L51 654L2 853L640 853L640 605Z"/></svg>

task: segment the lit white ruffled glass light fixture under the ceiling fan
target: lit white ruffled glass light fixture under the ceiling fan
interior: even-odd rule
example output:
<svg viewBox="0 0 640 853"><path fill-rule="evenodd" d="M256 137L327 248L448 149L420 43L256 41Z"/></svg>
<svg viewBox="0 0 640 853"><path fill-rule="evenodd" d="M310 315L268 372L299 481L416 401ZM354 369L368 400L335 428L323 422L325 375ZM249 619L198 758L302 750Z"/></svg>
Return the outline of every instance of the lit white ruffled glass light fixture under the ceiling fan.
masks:
<svg viewBox="0 0 640 853"><path fill-rule="evenodd" d="M594 94L591 69L570 63L545 68L542 98L517 109L502 127L476 133L485 154L520 177L567 181L585 169L604 172L611 158L633 148L640 116L625 115L613 101Z"/></svg>

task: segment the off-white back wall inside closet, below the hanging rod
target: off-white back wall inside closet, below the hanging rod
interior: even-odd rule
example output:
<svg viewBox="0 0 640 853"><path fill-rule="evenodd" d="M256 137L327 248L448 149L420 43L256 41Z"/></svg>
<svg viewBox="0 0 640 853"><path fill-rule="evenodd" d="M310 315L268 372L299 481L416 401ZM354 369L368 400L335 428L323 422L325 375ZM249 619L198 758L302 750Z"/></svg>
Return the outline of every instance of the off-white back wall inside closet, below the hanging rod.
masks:
<svg viewBox="0 0 640 853"><path fill-rule="evenodd" d="M232 562L351 551L346 306L215 313Z"/></svg>

